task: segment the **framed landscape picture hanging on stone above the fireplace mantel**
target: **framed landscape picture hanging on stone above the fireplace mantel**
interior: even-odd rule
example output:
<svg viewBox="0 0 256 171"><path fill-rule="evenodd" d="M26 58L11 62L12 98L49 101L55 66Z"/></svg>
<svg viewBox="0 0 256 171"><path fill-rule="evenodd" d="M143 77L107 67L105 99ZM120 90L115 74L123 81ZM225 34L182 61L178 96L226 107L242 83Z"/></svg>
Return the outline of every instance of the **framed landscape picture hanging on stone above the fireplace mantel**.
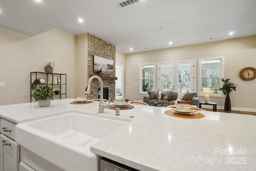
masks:
<svg viewBox="0 0 256 171"><path fill-rule="evenodd" d="M94 55L93 72L102 74L114 74L114 61Z"/></svg>

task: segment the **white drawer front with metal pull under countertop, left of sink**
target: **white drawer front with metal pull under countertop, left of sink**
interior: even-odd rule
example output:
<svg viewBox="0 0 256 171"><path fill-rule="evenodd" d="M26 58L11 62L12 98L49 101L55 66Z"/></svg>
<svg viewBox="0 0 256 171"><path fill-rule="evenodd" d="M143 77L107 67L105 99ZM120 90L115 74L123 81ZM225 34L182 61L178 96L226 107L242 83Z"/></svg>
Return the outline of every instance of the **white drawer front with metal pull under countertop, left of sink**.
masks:
<svg viewBox="0 0 256 171"><path fill-rule="evenodd" d="M0 119L0 132L15 140L15 124L4 119Z"/></svg>

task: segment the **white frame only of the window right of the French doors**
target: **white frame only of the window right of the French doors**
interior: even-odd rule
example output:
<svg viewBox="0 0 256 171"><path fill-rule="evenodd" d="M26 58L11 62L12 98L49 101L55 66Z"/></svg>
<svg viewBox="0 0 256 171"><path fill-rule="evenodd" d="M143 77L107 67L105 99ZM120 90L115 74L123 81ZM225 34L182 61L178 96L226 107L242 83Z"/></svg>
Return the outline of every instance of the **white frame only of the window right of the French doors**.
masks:
<svg viewBox="0 0 256 171"><path fill-rule="evenodd" d="M220 87L222 87L222 81L221 79L224 78L224 56L219 57L212 57L212 58L199 58L198 59L198 96L204 96L201 88L202 84L202 77L201 77L201 71L202 71L202 61L209 61L209 60L220 60ZM209 94L210 97L224 97L224 94L222 91L220 91L220 94Z"/></svg>

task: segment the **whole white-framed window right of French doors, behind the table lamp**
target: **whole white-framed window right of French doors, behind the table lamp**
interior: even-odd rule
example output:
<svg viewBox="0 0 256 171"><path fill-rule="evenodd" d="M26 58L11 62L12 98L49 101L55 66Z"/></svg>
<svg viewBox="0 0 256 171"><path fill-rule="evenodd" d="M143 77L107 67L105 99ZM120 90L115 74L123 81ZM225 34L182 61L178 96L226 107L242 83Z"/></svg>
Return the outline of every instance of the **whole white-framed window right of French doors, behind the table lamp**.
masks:
<svg viewBox="0 0 256 171"><path fill-rule="evenodd" d="M210 87L211 96L222 96L221 78L224 78L224 57L202 58L199 63L198 92L203 95L203 88Z"/></svg>

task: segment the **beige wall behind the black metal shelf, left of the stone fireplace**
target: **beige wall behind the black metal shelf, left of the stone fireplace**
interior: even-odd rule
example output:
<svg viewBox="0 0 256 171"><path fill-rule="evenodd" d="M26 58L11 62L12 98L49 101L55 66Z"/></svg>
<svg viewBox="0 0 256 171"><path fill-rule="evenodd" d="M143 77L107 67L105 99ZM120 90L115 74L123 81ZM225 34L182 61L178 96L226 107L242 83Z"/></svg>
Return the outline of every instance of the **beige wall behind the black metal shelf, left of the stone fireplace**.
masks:
<svg viewBox="0 0 256 171"><path fill-rule="evenodd" d="M30 72L44 72L48 62L67 74L67 97L76 97L75 57L75 36L59 29L0 46L0 105L30 102Z"/></svg>

